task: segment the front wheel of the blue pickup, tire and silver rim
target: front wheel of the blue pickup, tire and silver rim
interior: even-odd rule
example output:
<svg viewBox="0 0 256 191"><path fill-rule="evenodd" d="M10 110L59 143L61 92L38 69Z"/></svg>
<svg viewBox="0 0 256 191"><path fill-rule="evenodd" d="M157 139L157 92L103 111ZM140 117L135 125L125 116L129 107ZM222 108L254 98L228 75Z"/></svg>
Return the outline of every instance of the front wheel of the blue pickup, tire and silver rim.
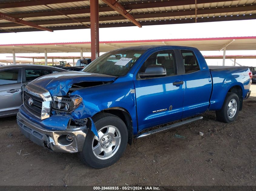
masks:
<svg viewBox="0 0 256 191"><path fill-rule="evenodd" d="M92 118L99 138L88 131L83 151L79 158L93 168L105 168L114 164L124 153L128 142L128 131L125 123L117 116L99 113Z"/></svg>

